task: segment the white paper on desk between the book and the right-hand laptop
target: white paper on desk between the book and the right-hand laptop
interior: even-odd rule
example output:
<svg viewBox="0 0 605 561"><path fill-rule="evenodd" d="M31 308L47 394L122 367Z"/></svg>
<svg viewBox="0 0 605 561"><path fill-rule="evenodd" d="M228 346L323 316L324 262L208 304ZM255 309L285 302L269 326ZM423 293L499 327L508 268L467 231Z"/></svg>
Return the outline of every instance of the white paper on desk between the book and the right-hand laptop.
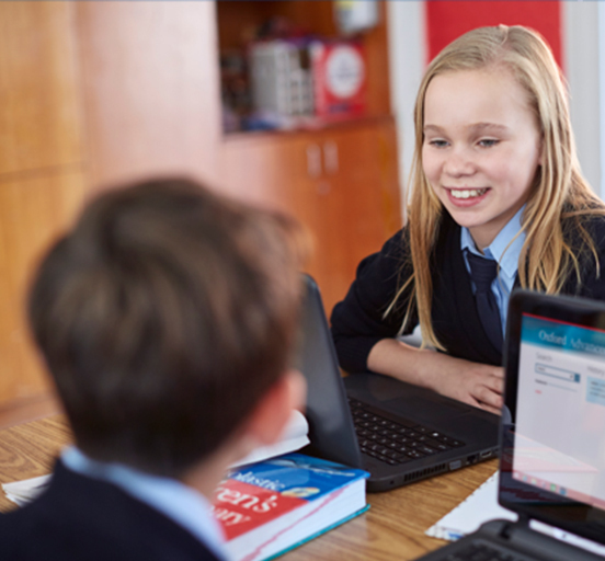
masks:
<svg viewBox="0 0 605 561"><path fill-rule="evenodd" d="M494 473L424 534L432 538L455 541L467 534L473 533L481 524L493 518L504 518L513 522L517 519L515 513L498 504L498 473Z"/></svg>

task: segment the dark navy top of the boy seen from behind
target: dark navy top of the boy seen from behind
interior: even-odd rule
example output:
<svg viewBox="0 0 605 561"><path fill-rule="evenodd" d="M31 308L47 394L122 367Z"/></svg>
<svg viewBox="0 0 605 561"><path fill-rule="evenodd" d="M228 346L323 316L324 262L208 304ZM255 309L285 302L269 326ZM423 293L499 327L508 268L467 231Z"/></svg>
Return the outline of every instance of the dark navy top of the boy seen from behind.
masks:
<svg viewBox="0 0 605 561"><path fill-rule="evenodd" d="M202 534L187 528L138 491L139 496L126 491L129 484L82 474L58 460L37 500L0 515L2 559L224 561L220 538L204 538L213 528Z"/></svg>

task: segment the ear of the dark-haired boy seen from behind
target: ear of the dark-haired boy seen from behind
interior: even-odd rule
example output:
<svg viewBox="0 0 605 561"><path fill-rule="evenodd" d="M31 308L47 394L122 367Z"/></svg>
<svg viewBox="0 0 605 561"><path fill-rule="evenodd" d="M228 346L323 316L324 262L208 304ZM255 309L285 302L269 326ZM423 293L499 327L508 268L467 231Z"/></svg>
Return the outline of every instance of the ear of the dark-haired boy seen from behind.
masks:
<svg viewBox="0 0 605 561"><path fill-rule="evenodd" d="M302 410L307 394L305 378L287 370L263 396L246 422L246 435L256 446L273 444L282 436L294 409Z"/></svg>

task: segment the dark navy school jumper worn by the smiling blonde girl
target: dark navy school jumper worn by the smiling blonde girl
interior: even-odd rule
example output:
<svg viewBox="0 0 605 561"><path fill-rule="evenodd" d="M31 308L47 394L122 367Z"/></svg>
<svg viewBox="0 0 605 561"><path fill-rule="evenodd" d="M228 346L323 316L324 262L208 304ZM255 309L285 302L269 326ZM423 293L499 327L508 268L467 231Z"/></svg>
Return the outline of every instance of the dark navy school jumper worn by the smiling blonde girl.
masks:
<svg viewBox="0 0 605 561"><path fill-rule="evenodd" d="M572 271L561 294L605 300L605 217L589 218L586 229L595 241L602 274L597 275L594 256L585 251L581 236L568 228L566 239L575 249L575 254L580 255L581 282L578 282ZM490 342L479 319L465 257L466 250L460 240L460 226L449 214L444 213L430 260L433 330L449 355L500 366L502 352ZM411 273L409 239L404 228L389 239L380 252L361 262L346 297L334 307L331 316L336 354L344 370L367 371L367 357L372 347L383 339L398 336L411 290L407 289L402 294L395 310L386 318L384 313ZM494 286L498 284L498 280L494 282ZM515 286L518 286L516 275ZM507 297L500 304L504 324ZM413 312L401 334L411 333L418 323L418 314Z"/></svg>

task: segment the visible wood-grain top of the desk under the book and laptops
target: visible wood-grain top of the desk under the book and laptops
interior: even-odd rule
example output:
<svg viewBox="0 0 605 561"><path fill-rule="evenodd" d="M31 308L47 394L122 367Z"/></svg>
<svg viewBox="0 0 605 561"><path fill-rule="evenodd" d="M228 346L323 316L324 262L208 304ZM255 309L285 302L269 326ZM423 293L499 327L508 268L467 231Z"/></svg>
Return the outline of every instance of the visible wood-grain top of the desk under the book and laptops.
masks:
<svg viewBox="0 0 605 561"><path fill-rule="evenodd" d="M48 473L71 435L60 416L0 431L0 483ZM387 493L368 494L370 510L302 547L284 561L392 560L416 557L444 542L424 530L468 496L496 469L495 460ZM0 493L0 511L14 505Z"/></svg>

